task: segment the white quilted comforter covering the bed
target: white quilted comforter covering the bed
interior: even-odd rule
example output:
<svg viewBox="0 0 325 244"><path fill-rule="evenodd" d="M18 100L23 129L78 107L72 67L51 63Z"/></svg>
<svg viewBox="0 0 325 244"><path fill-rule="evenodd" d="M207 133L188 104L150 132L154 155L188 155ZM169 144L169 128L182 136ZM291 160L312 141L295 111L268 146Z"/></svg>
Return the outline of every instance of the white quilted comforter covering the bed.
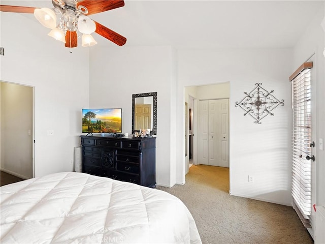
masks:
<svg viewBox="0 0 325 244"><path fill-rule="evenodd" d="M169 193L64 172L1 187L1 243L201 243Z"/></svg>

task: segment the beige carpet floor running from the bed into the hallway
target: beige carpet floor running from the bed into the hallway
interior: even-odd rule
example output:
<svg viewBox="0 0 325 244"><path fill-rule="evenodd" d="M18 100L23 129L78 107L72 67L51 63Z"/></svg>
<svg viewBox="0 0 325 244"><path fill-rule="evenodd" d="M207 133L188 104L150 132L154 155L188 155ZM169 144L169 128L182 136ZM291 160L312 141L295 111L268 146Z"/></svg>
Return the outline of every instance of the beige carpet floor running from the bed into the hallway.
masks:
<svg viewBox="0 0 325 244"><path fill-rule="evenodd" d="M181 199L203 243L314 243L289 206L229 195L229 169L193 165L184 186L157 186Z"/></svg>

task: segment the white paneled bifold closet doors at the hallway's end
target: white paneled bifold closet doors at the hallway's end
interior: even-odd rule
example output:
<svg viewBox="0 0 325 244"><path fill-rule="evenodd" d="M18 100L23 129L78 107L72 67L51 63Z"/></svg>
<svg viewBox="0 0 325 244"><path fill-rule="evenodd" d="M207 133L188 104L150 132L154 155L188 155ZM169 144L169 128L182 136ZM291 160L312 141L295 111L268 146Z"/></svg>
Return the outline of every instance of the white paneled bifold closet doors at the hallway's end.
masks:
<svg viewBox="0 0 325 244"><path fill-rule="evenodd" d="M199 164L229 167L229 100L199 101Z"/></svg>

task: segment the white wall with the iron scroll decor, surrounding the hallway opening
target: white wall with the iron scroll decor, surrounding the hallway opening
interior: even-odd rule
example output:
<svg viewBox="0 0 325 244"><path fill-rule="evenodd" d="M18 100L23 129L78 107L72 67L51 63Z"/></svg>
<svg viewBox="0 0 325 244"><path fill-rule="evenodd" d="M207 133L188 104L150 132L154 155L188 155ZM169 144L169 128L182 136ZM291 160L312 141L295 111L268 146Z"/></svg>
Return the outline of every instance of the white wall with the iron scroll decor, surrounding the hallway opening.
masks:
<svg viewBox="0 0 325 244"><path fill-rule="evenodd" d="M290 134L291 134L291 74L292 50L179 50L178 82L180 87L215 84L230 81L230 175L231 194L249 198L291 204L290 197ZM235 107L250 92L255 83L274 90L284 106L274 110L274 116L253 123L244 110ZM179 107L183 94L178 93ZM181 125L182 115L177 116ZM177 138L178 145L183 137ZM178 158L182 150L178 147ZM255 178L248 182L248 175ZM178 181L184 180L177 172Z"/></svg>

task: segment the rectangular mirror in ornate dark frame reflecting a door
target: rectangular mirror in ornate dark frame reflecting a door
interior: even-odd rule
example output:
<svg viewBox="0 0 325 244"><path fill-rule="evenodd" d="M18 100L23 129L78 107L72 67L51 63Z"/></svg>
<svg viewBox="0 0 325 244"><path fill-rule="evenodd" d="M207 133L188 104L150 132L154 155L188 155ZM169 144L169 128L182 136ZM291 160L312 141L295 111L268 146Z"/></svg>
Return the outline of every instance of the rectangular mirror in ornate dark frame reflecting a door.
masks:
<svg viewBox="0 0 325 244"><path fill-rule="evenodd" d="M132 133L150 129L157 134L157 93L132 95Z"/></svg>

